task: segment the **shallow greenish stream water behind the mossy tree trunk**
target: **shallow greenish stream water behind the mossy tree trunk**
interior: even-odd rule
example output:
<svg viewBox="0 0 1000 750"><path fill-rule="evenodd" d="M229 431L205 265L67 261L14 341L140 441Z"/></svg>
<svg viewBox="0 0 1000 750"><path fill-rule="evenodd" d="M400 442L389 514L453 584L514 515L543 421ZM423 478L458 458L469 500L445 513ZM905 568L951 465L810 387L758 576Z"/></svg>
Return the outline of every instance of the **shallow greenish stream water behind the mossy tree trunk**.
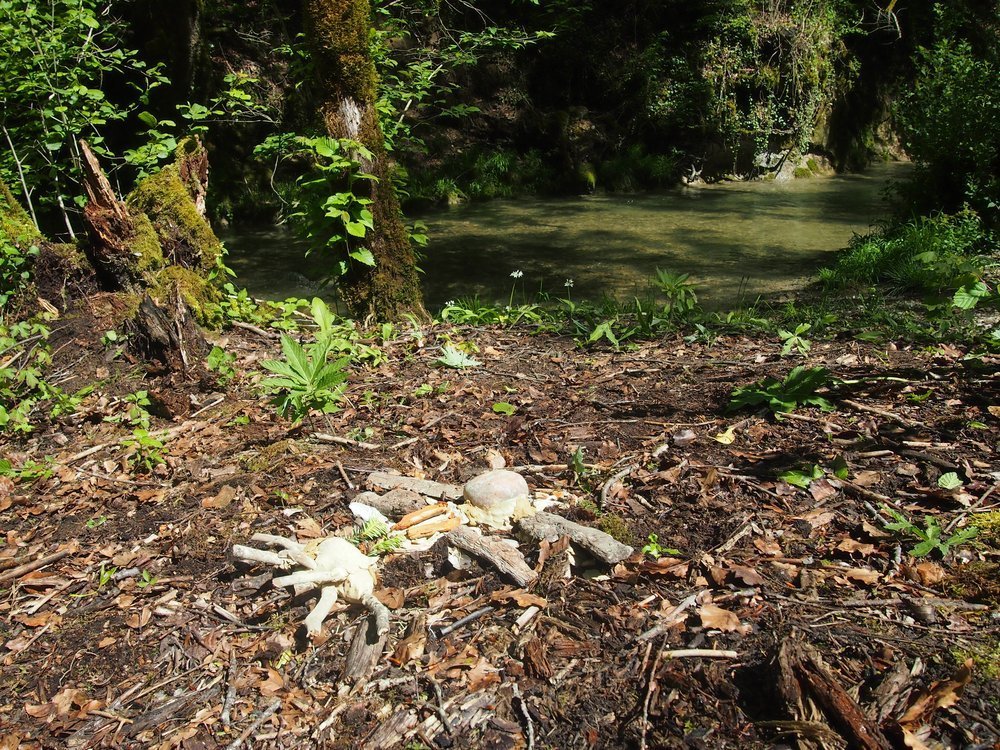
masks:
<svg viewBox="0 0 1000 750"><path fill-rule="evenodd" d="M735 182L640 195L531 198L458 206L427 224L423 287L429 309L478 295L506 302L538 290L575 299L642 295L657 268L689 273L703 303L729 307L800 288L854 233L886 213L883 193L907 165L862 175ZM223 233L239 283L267 299L321 294L320 258L283 227Z"/></svg>

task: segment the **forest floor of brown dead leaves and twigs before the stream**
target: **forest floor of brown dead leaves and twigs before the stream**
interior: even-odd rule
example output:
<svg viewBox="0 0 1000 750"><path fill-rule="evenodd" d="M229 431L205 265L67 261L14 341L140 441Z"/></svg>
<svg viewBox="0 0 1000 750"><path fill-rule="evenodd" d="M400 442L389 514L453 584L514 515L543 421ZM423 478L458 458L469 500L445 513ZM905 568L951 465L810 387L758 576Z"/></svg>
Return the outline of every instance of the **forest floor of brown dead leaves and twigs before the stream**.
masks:
<svg viewBox="0 0 1000 750"><path fill-rule="evenodd" d="M62 387L100 385L0 442L15 466L52 457L51 476L0 477L3 750L1000 742L995 358L846 338L783 358L739 336L616 352L436 326L381 344L346 408L293 426L253 375L279 353L270 332L215 337L236 356L220 386L112 359L93 321L53 327ZM437 366L446 340L481 366ZM734 388L798 364L851 381L833 411L727 410ZM137 390L166 433L147 473L122 442ZM522 540L527 589L485 563L452 570L440 545L390 555L389 642L353 682L363 610L340 605L310 642L309 597L233 562L256 532L350 529L374 472L461 485L501 465L635 554L602 567ZM914 557L887 507L942 540L979 535ZM658 559L640 551L652 534Z"/></svg>

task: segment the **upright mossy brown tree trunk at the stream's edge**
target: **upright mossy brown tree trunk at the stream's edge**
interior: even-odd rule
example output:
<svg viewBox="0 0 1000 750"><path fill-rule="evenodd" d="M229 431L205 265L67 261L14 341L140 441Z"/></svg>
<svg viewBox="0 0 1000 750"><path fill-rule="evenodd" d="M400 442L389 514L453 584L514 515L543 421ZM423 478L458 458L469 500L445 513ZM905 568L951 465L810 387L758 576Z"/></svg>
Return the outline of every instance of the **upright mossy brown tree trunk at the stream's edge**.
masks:
<svg viewBox="0 0 1000 750"><path fill-rule="evenodd" d="M365 238L375 266L354 263L340 280L341 294L360 319L397 320L406 313L425 317L416 258L392 187L375 109L369 0L304 0L304 6L326 130L333 138L350 138L368 148L374 156L363 166L378 178L368 196L373 201L374 230Z"/></svg>

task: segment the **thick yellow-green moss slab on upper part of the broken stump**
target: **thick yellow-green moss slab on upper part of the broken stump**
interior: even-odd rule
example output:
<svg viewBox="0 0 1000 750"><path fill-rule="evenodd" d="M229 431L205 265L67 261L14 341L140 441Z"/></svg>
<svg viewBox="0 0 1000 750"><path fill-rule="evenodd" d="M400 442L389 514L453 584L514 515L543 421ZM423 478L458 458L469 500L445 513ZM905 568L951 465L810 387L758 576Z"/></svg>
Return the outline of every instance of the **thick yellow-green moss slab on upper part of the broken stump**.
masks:
<svg viewBox="0 0 1000 750"><path fill-rule="evenodd" d="M216 267L222 243L195 208L177 165L144 179L127 202L136 213L149 217L166 261L204 273Z"/></svg>

